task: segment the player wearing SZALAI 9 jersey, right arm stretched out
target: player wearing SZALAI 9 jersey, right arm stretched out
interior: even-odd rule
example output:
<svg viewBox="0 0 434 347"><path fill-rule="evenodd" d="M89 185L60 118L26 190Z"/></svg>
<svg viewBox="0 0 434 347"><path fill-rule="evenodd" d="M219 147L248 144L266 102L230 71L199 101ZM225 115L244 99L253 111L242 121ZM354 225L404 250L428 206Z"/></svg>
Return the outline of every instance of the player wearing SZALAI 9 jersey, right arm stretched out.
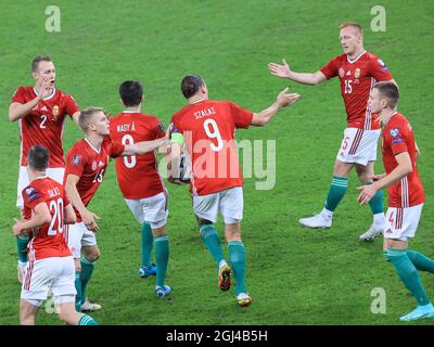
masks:
<svg viewBox="0 0 434 347"><path fill-rule="evenodd" d="M241 240L243 218L243 180L239 166L235 128L265 126L278 111L299 99L298 94L279 93L277 101L259 113L253 113L228 101L208 100L208 90L200 76L189 75L181 82L189 105L176 113L170 123L171 145L169 181L178 182L181 145L191 167L190 191L200 234L218 268L219 287L228 291L231 269L225 260L220 239L214 226L221 213L229 260L235 278L235 295L240 306L252 297L245 284L245 248Z"/></svg>

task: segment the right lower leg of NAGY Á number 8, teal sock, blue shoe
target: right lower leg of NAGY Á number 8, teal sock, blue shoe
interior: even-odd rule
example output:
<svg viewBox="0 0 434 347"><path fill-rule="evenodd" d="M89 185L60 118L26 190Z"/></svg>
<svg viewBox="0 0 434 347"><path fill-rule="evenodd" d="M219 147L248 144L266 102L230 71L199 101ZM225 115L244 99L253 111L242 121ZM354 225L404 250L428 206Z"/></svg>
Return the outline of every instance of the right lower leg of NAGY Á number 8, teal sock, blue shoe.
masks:
<svg viewBox="0 0 434 347"><path fill-rule="evenodd" d="M169 240L166 226L152 229L155 245L155 262L156 262L156 296L162 298L170 294L171 288L164 284L167 272L167 262L169 261Z"/></svg>

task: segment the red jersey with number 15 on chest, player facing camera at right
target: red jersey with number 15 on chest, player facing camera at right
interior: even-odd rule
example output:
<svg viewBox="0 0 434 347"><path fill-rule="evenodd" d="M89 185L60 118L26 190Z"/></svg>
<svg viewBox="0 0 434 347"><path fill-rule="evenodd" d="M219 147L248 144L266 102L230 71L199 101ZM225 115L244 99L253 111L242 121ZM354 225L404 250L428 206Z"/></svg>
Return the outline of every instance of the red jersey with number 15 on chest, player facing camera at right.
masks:
<svg viewBox="0 0 434 347"><path fill-rule="evenodd" d="M371 114L368 101L376 81L393 79L381 59L366 51L355 60L349 60L347 54L341 54L322 67L321 73L327 79L340 77L348 128L380 129L378 115Z"/></svg>

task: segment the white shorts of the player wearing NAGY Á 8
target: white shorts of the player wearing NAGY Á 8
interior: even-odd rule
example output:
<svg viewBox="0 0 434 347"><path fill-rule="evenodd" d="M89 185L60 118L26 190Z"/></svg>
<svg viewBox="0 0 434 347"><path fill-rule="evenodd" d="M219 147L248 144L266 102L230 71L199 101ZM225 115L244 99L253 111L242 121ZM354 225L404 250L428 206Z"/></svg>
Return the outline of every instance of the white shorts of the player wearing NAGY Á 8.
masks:
<svg viewBox="0 0 434 347"><path fill-rule="evenodd" d="M145 198L126 198L125 202L139 223L142 224L146 221L151 224L152 229L166 226L167 216L169 215L166 191Z"/></svg>

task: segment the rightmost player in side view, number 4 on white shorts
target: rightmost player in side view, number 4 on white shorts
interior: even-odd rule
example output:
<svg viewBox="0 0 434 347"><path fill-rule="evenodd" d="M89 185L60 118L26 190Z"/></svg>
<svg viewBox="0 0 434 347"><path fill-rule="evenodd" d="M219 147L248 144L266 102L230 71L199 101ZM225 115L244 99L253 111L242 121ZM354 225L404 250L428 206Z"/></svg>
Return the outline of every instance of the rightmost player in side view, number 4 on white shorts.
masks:
<svg viewBox="0 0 434 347"><path fill-rule="evenodd" d="M408 242L414 237L418 228L424 194L416 165L414 134L410 123L396 110L398 100L399 91L395 83L379 82L372 90L371 108L379 113L383 126L382 152L386 172L372 177L373 184L359 188L358 202L367 204L378 191L388 188L383 254L418 303L413 311L400 318L401 321L412 321L434 318L434 307L418 274L418 270L434 273L434 260L419 252L408 250Z"/></svg>

